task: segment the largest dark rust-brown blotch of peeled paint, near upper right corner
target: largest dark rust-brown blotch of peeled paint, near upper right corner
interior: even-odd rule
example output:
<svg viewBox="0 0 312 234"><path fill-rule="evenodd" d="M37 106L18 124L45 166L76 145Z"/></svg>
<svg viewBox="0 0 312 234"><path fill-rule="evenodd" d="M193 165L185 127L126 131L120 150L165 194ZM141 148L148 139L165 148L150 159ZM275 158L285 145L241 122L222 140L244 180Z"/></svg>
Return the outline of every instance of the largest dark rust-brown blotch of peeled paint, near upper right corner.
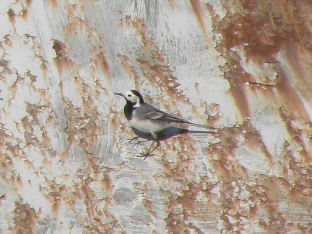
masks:
<svg viewBox="0 0 312 234"><path fill-rule="evenodd" d="M257 1L242 1L242 5L249 14L227 14L220 22L214 23L222 34L221 44L227 49L245 44L245 51L251 57L277 53L291 35L291 27L279 23L283 21L281 15L276 15L272 21L259 8Z"/></svg>

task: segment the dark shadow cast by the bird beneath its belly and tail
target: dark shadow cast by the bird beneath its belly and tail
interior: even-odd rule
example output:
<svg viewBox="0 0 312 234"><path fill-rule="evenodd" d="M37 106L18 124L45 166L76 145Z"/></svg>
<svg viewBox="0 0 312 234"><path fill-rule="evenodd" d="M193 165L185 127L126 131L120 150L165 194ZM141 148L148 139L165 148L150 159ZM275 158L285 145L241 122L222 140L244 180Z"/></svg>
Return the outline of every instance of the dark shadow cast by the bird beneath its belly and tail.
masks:
<svg viewBox="0 0 312 234"><path fill-rule="evenodd" d="M137 135L137 137L144 138L147 141L154 140L153 136L149 132L143 132L136 128L132 127L133 132ZM166 140L170 137L176 136L176 135L182 135L187 133L211 133L211 134L218 134L218 132L214 131L198 131L198 130L189 130L186 128L178 128L178 127L167 127L163 129L162 131L156 132L157 138L159 141ZM134 138L137 138L134 137Z"/></svg>

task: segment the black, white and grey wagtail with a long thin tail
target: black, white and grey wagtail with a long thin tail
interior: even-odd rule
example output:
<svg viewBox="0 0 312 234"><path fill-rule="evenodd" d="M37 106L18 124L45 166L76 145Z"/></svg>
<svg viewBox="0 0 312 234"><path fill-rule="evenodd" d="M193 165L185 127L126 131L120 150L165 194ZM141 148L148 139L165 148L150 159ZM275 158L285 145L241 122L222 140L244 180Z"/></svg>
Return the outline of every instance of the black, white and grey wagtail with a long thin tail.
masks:
<svg viewBox="0 0 312 234"><path fill-rule="evenodd" d="M151 155L151 153L160 145L157 132L164 130L165 128L171 127L175 124L187 124L191 126L197 126L202 128L215 129L214 127L191 123L183 119L174 117L168 113L165 113L147 103L144 102L142 96L136 90L129 90L125 94L115 93L126 100L124 106L124 115L132 128L138 129L139 131L150 133L153 138L149 149L146 153L142 154L143 157ZM154 142L157 142L157 146L152 148Z"/></svg>

